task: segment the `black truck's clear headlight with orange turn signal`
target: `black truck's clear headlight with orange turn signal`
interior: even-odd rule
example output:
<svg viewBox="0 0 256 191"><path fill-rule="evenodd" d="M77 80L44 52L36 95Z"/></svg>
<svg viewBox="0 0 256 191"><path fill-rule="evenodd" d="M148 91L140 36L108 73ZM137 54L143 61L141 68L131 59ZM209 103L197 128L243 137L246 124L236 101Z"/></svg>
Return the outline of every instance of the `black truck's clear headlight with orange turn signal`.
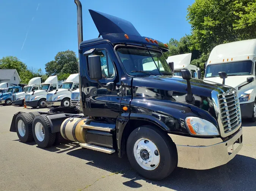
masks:
<svg viewBox="0 0 256 191"><path fill-rule="evenodd" d="M220 135L214 124L199 117L187 117L185 124L192 135Z"/></svg>

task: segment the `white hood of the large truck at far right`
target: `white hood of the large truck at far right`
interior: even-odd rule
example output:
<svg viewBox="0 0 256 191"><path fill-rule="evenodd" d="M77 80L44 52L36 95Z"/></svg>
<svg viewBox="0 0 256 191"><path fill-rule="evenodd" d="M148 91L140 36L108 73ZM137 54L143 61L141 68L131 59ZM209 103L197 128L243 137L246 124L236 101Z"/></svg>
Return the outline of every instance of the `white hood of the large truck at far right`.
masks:
<svg viewBox="0 0 256 191"><path fill-rule="evenodd" d="M247 83L246 79L247 77L251 77L251 75L236 75L236 76L228 76L225 79L225 85L231 86L232 88L235 88L236 91L238 91L238 87ZM212 78L205 78L204 82L215 82L222 84L223 79L220 77L212 77Z"/></svg>

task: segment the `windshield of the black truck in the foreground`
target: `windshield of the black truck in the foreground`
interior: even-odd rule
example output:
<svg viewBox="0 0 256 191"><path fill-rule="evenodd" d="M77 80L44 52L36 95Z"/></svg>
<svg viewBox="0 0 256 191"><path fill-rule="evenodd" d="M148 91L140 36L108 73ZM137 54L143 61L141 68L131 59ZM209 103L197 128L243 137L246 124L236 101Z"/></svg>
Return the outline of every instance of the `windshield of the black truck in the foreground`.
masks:
<svg viewBox="0 0 256 191"><path fill-rule="evenodd" d="M162 52L142 48L118 48L117 52L129 75L173 75Z"/></svg>

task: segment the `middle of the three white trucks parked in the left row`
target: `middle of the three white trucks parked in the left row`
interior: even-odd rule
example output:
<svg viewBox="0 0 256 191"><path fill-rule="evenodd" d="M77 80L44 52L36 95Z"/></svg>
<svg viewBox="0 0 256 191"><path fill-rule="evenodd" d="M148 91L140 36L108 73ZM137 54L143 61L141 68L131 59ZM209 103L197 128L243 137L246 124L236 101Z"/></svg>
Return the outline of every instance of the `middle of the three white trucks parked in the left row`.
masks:
<svg viewBox="0 0 256 191"><path fill-rule="evenodd" d="M47 92L58 89L58 77L57 75L50 76L44 83L41 84L39 90L29 92L25 95L25 102L27 106L32 108L46 108L46 95Z"/></svg>

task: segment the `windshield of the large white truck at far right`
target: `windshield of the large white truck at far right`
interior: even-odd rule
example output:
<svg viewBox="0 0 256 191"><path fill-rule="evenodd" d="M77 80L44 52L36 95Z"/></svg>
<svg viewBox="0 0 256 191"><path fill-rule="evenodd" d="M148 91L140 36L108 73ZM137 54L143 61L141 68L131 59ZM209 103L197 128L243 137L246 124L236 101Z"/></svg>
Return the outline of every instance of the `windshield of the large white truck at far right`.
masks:
<svg viewBox="0 0 256 191"><path fill-rule="evenodd" d="M251 75L253 63L250 60L212 64L206 67L206 78L219 77L218 72L226 72L232 75Z"/></svg>

